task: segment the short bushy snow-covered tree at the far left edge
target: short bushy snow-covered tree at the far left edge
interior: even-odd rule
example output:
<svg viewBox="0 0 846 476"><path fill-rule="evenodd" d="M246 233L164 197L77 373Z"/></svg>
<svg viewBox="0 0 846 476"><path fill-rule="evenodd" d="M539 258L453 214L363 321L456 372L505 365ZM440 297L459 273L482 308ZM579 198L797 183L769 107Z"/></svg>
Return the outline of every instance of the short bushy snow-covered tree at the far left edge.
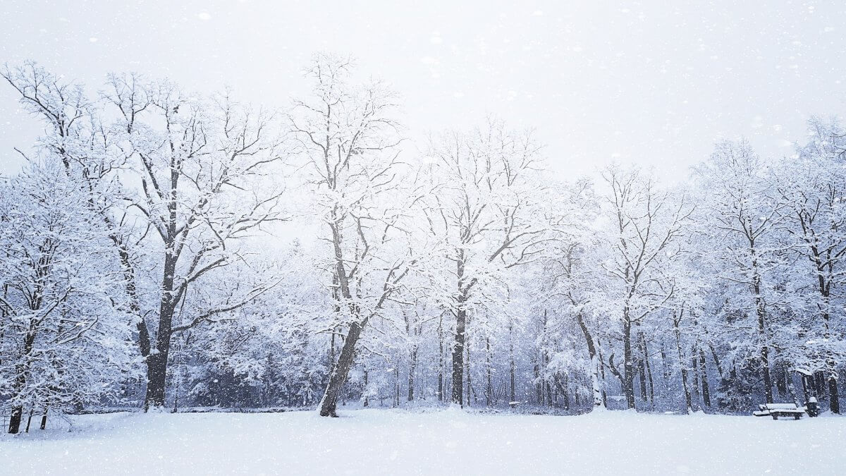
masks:
<svg viewBox="0 0 846 476"><path fill-rule="evenodd" d="M58 163L0 183L0 394L18 433L25 407L67 410L133 375L123 275L91 193ZM27 423L29 429L29 423Z"/></svg>

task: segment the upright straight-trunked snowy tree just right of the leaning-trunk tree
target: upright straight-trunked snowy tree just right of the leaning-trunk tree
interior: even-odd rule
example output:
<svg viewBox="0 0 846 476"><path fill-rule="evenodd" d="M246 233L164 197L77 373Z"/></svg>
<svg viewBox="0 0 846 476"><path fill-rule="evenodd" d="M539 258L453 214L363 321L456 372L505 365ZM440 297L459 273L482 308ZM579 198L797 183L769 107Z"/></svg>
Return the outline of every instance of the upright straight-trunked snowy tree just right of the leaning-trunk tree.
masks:
<svg viewBox="0 0 846 476"><path fill-rule="evenodd" d="M433 184L426 220L445 250L432 285L455 318L454 404L464 405L468 313L502 294L508 268L530 263L551 240L552 227L542 214L545 187L535 180L540 151L530 131L489 119L470 132L433 138L426 154Z"/></svg>

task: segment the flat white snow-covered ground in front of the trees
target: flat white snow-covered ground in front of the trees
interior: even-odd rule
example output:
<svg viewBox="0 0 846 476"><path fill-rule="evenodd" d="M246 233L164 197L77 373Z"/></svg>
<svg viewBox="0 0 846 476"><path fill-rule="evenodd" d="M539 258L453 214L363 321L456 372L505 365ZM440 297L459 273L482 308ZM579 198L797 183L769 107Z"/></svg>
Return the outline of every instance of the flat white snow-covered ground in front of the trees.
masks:
<svg viewBox="0 0 846 476"><path fill-rule="evenodd" d="M0 437L15 474L844 474L846 418L360 410L77 417ZM830 444L831 446L827 446Z"/></svg>

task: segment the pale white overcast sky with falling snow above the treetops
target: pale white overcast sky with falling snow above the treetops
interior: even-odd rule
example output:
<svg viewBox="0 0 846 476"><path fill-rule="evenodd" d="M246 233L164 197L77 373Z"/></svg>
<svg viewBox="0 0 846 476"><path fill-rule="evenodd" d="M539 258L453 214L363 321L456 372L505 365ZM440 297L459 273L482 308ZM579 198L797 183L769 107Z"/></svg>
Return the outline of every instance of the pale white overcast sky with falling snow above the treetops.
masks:
<svg viewBox="0 0 846 476"><path fill-rule="evenodd" d="M137 71L286 106L316 51L404 97L412 136L495 114L536 127L563 179L617 160L677 180L721 137L791 153L846 111L846 2L0 2L0 60L92 91ZM0 173L39 132L0 85Z"/></svg>

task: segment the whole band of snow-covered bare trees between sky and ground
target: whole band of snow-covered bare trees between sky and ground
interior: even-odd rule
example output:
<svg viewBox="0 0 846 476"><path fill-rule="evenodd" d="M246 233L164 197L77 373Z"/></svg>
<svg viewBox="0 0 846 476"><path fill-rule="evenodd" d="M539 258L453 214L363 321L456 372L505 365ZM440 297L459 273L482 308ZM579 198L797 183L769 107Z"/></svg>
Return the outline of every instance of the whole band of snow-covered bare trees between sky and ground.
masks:
<svg viewBox="0 0 846 476"><path fill-rule="evenodd" d="M3 69L43 126L0 180L10 433L82 407L840 412L836 119L784 158L718 143L679 185L563 182L505 119L401 148L385 84L304 74L273 110Z"/></svg>

